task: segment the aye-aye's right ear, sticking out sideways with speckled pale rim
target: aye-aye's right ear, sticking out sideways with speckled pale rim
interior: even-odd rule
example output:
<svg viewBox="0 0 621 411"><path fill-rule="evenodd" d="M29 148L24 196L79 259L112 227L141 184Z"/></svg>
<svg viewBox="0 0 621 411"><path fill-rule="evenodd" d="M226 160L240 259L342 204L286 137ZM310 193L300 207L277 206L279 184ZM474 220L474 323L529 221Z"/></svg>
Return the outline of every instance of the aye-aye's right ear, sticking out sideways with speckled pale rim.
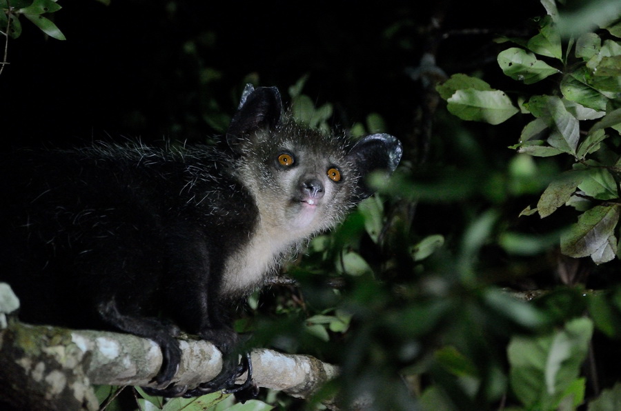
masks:
<svg viewBox="0 0 621 411"><path fill-rule="evenodd" d="M346 155L360 173L355 201L364 200L375 191L365 182L368 174L376 170L392 174L399 165L402 154L401 142L390 134L371 134L357 141Z"/></svg>

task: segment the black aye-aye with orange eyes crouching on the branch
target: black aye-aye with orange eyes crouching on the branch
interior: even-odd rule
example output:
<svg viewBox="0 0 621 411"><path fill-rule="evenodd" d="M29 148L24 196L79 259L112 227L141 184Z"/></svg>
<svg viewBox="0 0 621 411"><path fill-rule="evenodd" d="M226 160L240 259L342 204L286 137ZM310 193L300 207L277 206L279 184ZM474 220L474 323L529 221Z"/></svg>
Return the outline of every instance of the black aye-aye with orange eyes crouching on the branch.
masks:
<svg viewBox="0 0 621 411"><path fill-rule="evenodd" d="M179 330L230 352L223 305L339 222L372 194L364 178L393 172L401 155L388 134L351 143L304 128L282 114L276 88L250 85L217 147L3 154L0 281L23 321L152 339L163 387Z"/></svg>

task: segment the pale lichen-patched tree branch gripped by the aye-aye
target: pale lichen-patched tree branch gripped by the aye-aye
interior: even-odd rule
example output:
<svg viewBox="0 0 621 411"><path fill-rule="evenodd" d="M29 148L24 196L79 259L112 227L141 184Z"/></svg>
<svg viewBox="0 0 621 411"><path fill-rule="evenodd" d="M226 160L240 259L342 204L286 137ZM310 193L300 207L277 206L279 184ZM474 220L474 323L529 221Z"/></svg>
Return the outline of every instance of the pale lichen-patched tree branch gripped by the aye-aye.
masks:
<svg viewBox="0 0 621 411"><path fill-rule="evenodd" d="M3 326L2 292L0 399L31 410L97 410L91 384L155 386L150 381L162 357L153 341L117 332L27 325L11 317ZM181 363L174 382L193 387L220 372L221 353L213 344L179 339L179 345ZM250 355L257 385L295 397L308 397L337 373L335 366L307 355L266 349Z"/></svg>

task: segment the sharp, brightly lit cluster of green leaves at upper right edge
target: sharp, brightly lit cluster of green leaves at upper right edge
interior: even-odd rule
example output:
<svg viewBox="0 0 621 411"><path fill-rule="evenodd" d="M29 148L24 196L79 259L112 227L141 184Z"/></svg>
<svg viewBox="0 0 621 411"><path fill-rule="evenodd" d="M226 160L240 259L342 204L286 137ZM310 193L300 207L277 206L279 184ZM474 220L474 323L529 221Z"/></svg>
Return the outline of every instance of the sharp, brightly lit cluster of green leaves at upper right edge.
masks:
<svg viewBox="0 0 621 411"><path fill-rule="evenodd" d="M590 209L582 209L578 223L561 237L561 250L570 257L590 256L595 263L605 263L620 255L615 228L620 203L616 147L621 130L621 45L613 24L600 34L584 32L563 41L561 18L554 3L546 4L550 14L540 19L539 33L527 41L511 39L522 47L500 52L497 61L504 74L526 85L560 77L558 88L550 94L520 93L519 110L504 92L463 74L455 74L438 91L449 111L464 120L498 124L520 110L534 117L512 148L534 157L569 154L575 162L571 171L549 183L537 208L528 212L537 210L543 218L578 197L584 201L575 207L589 203Z"/></svg>

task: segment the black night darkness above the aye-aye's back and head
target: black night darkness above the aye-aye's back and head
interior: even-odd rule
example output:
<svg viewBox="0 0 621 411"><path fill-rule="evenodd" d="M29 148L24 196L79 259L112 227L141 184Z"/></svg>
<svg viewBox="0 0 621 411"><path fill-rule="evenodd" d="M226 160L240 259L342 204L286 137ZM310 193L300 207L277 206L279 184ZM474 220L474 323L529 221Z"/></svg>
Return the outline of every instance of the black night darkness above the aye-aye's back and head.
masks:
<svg viewBox="0 0 621 411"><path fill-rule="evenodd" d="M204 139L206 117L235 110L247 79L286 88L308 74L317 103L344 128L379 112L413 127L420 85L406 74L431 51L448 74L500 74L491 38L524 32L540 2L60 0L66 41L22 19L0 75L6 146L139 137ZM210 75L210 73L215 74ZM218 130L218 128L220 130Z"/></svg>

